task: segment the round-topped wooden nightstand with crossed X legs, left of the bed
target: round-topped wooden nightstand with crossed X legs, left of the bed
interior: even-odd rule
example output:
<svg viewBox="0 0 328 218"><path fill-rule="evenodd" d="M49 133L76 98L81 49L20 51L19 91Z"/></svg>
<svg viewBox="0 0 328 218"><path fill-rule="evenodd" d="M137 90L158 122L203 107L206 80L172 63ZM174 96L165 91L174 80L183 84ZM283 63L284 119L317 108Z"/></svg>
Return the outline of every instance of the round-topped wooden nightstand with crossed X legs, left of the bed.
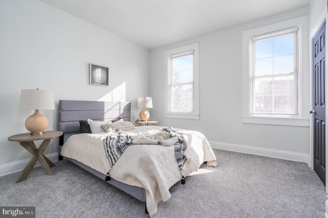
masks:
<svg viewBox="0 0 328 218"><path fill-rule="evenodd" d="M19 142L27 151L29 151L33 157L29 163L24 168L22 174L20 174L16 183L21 182L27 178L30 171L33 169L36 161L39 161L43 169L46 171L47 175L54 175L50 167L53 167L54 164L46 158L42 153L47 148L50 143L50 140L56 137L63 135L63 132L60 131L47 131L43 135L31 135L31 133L23 133L18 135L13 135L8 137L8 141ZM42 144L37 148L33 141L44 140Z"/></svg>

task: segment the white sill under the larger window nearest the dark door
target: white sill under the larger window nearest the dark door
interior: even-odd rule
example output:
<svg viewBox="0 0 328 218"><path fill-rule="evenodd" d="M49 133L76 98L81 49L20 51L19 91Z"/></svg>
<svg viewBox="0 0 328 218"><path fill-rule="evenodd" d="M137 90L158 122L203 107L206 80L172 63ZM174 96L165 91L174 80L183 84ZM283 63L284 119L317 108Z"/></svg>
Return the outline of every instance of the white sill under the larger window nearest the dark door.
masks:
<svg viewBox="0 0 328 218"><path fill-rule="evenodd" d="M242 123L282 126L310 126L309 119L300 118L242 117Z"/></svg>

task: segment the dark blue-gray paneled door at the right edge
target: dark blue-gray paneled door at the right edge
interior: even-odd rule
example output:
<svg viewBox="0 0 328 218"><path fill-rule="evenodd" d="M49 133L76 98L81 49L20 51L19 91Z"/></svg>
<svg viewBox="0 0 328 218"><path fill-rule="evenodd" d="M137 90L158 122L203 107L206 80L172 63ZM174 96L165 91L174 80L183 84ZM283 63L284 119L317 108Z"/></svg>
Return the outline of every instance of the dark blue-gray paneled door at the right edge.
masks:
<svg viewBox="0 0 328 218"><path fill-rule="evenodd" d="M325 30L322 25L313 39L313 130L314 170L325 185Z"/></svg>

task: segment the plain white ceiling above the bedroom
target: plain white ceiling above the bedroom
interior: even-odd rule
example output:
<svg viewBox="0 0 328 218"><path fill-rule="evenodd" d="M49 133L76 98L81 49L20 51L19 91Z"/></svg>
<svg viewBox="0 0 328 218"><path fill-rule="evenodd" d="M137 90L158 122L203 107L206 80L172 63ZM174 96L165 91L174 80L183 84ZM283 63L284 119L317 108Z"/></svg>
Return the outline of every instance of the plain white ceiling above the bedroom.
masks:
<svg viewBox="0 0 328 218"><path fill-rule="evenodd" d="M152 49L303 8L310 0L39 0Z"/></svg>

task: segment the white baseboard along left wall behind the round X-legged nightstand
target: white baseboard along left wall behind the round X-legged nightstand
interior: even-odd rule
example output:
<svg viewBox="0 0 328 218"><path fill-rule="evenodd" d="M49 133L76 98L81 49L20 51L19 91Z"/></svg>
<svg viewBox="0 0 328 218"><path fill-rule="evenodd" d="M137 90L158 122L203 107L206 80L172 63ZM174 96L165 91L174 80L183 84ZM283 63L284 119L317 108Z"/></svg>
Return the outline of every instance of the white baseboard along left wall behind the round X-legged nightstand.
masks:
<svg viewBox="0 0 328 218"><path fill-rule="evenodd" d="M58 152L51 154L50 158L49 158L49 154L45 155L45 156L49 160L51 160L51 162L58 161ZM23 171L23 169L25 168L25 166L28 164L29 161L30 161L30 158L25 159L25 160L20 160L20 161L13 161L10 163L0 165L0 177L8 175L13 172ZM36 166L40 166L38 161L36 162L34 167L36 167Z"/></svg>

